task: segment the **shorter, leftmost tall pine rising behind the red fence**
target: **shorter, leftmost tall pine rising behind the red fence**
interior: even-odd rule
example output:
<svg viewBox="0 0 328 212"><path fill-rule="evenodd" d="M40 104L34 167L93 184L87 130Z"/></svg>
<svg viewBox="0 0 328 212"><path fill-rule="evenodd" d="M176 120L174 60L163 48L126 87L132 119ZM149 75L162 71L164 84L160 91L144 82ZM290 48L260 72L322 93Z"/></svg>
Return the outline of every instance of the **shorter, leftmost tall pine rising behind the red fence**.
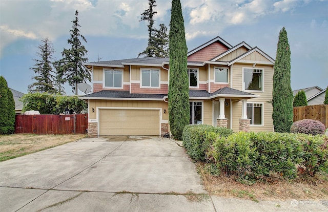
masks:
<svg viewBox="0 0 328 212"><path fill-rule="evenodd" d="M36 55L39 59L33 59L35 65L30 68L37 74L32 77L36 82L33 82L28 86L29 91L35 92L49 92L56 93L54 88L54 71L52 70L52 63L54 57L52 56L55 50L48 37L41 40L42 44L38 45L38 52Z"/></svg>

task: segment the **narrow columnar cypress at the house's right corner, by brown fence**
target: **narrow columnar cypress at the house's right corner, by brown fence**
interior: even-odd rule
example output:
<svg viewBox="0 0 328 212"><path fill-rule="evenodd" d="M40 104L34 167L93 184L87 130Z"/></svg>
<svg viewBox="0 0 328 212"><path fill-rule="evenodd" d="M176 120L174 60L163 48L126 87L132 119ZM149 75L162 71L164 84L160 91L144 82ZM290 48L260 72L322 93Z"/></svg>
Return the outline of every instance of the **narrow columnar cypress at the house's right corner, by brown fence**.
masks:
<svg viewBox="0 0 328 212"><path fill-rule="evenodd" d="M293 124L293 92L291 88L291 51L287 32L279 33L273 74L273 125L275 132L290 132Z"/></svg>

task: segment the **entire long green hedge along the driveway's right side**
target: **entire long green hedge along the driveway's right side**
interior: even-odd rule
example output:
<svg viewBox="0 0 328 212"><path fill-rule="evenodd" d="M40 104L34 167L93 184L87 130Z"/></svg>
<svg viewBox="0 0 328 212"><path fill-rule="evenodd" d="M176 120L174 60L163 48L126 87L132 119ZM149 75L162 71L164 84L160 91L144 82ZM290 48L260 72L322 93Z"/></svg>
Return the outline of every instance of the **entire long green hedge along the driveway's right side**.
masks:
<svg viewBox="0 0 328 212"><path fill-rule="evenodd" d="M218 173L259 178L328 172L328 137L290 133L234 133L226 128L189 125L183 145L191 158L213 162Z"/></svg>

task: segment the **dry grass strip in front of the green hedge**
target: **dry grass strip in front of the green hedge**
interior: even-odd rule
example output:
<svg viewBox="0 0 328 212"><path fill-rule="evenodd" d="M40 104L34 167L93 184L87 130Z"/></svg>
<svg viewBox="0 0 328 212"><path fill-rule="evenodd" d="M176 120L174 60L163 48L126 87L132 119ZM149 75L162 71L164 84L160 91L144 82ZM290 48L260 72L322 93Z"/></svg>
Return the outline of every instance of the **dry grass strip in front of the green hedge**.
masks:
<svg viewBox="0 0 328 212"><path fill-rule="evenodd" d="M328 174L317 174L311 179L284 180L270 178L253 183L238 182L232 177L213 176L197 163L204 187L211 195L259 200L327 200Z"/></svg>

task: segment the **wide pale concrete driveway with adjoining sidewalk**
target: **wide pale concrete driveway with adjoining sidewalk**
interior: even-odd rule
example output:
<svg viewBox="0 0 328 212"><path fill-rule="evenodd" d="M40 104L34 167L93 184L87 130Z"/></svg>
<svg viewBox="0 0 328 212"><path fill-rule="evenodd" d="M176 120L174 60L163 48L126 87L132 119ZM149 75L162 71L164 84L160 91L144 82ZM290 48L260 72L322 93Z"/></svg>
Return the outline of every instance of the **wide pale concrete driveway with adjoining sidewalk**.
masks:
<svg viewBox="0 0 328 212"><path fill-rule="evenodd" d="M328 202L209 196L173 139L86 138L0 162L1 211L327 211Z"/></svg>

